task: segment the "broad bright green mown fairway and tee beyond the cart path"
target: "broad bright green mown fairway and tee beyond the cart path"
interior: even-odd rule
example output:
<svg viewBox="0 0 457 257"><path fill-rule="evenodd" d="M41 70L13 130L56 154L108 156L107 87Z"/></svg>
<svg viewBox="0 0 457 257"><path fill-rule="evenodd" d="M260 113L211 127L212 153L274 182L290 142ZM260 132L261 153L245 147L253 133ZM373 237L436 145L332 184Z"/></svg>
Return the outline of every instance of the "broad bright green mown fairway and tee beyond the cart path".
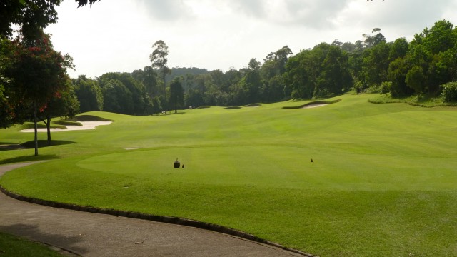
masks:
<svg viewBox="0 0 457 257"><path fill-rule="evenodd" d="M51 201L217 223L317 256L457 256L456 109L371 97L316 109L90 113L114 123L54 133L74 143L40 148L54 159L0 183ZM0 141L23 136L0 131Z"/></svg>

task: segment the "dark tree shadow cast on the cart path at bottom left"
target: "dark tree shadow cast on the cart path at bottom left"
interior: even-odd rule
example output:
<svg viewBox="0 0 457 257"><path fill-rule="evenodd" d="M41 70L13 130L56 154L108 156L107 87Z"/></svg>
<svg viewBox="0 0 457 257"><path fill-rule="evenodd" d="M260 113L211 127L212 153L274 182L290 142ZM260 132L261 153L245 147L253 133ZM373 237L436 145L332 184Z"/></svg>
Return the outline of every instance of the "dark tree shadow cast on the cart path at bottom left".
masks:
<svg viewBox="0 0 457 257"><path fill-rule="evenodd" d="M75 246L77 243L82 241L81 236L63 236L61 234L46 233L41 231L39 226L22 223L16 223L9 226L0 226L0 231L14 234L16 236L30 238L33 241L50 243L51 245L65 246L66 248L71 248L72 251L76 251L78 253L88 253L86 248ZM6 256L8 256L8 254Z"/></svg>

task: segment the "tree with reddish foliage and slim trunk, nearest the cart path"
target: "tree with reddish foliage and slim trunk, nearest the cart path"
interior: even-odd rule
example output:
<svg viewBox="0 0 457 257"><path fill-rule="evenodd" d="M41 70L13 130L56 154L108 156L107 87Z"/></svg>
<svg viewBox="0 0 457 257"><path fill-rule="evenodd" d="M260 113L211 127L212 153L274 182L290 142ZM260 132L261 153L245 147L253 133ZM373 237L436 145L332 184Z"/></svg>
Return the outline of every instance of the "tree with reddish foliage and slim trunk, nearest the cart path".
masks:
<svg viewBox="0 0 457 257"><path fill-rule="evenodd" d="M44 110L55 96L66 91L69 80L66 69L72 68L71 56L62 55L52 47L48 34L41 32L36 40L18 37L7 75L12 78L14 99L33 112L35 124L35 155L38 155L37 126L40 109Z"/></svg>

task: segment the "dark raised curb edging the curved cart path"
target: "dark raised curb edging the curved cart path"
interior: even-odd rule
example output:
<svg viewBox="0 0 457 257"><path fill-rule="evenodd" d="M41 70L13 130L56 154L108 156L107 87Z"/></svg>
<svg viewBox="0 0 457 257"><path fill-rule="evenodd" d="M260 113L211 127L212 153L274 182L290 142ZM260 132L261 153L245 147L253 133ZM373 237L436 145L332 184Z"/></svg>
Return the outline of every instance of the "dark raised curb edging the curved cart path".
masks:
<svg viewBox="0 0 457 257"><path fill-rule="evenodd" d="M156 221L156 222L161 222L161 223L171 223L171 224L175 224L175 225L189 226L189 227L193 227L193 228L201 228L201 229L204 229L207 231L224 233L229 236L236 236L238 238L243 238L243 239L246 239L249 241L263 243L265 245L273 246L276 248L281 248L285 251L290 251L291 253L297 253L302 256L314 257L313 255L311 255L309 253L303 253L302 251L298 251L293 248L287 248L286 246L281 246L278 243L273 243L266 239L259 238L258 236L253 236L249 233L245 233L243 231L237 231L233 228L227 228L227 227L212 224L212 223L194 221L194 220L187 219L187 218L158 216L158 215L151 215L151 214L138 213L138 212L132 212L132 211L119 211L119 210L115 210L115 209L96 208L96 207L90 207L90 206L78 206L78 205L69 204L69 203L59 203L59 202L55 202L55 201L48 201L48 200L32 198L32 197L28 197L28 196L21 196L17 193L7 191L5 188L3 188L3 186L0 186L0 191L3 192L4 194L6 194L6 196L9 196L16 200L26 201L29 203L36 203L36 204L39 204L42 206L49 206L49 207L54 207L54 208L64 208L64 209L69 209L69 210L74 210L74 211L84 211L84 212L89 212L89 213L107 214L107 215L111 215L111 216L121 216L121 217L126 217L126 218L137 218L137 219L148 220L148 221Z"/></svg>

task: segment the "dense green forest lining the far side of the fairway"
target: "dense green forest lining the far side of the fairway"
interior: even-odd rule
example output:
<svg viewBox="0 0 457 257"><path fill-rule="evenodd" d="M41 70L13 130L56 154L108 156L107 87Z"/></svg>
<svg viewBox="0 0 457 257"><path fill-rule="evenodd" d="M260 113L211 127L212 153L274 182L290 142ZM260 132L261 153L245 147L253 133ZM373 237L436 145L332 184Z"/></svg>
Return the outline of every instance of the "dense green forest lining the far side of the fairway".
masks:
<svg viewBox="0 0 457 257"><path fill-rule="evenodd" d="M452 83L457 80L456 57L457 29L441 20L411 41L386 42L381 29L373 29L353 43L335 40L297 54L283 46L266 54L263 63L251 59L239 70L169 69L161 64L97 79L79 76L73 84L82 112L137 115L169 111L176 104L181 109L241 106L334 96L351 90L390 93L392 97L443 94L444 101L456 101ZM177 98L171 94L173 83L177 92L181 91Z"/></svg>

